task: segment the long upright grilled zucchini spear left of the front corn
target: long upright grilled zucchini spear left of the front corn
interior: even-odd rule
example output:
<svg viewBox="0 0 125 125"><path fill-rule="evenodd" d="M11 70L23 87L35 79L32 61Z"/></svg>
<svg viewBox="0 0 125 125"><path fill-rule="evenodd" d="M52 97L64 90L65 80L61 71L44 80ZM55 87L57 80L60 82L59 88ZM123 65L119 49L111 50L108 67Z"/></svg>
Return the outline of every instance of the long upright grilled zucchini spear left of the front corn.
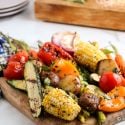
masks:
<svg viewBox="0 0 125 125"><path fill-rule="evenodd" d="M35 66L31 61L25 64L24 78L26 80L29 104L33 117L38 117L41 113L41 87Z"/></svg>

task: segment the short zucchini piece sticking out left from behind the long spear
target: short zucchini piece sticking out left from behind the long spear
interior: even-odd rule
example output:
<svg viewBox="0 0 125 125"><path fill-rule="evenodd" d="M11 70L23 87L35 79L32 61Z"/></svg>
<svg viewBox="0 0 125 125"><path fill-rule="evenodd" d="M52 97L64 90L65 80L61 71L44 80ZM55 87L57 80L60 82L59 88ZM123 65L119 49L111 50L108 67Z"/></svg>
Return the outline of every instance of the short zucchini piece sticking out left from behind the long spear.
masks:
<svg viewBox="0 0 125 125"><path fill-rule="evenodd" d="M13 86L16 89L27 91L25 80L7 80L7 83L9 83L11 86Z"/></svg>

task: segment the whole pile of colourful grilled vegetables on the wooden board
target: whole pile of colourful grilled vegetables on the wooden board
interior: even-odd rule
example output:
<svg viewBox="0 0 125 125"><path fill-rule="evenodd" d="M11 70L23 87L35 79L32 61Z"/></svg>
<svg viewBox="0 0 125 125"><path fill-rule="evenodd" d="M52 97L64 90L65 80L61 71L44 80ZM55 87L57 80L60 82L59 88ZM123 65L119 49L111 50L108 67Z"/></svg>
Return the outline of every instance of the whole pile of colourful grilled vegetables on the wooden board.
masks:
<svg viewBox="0 0 125 125"><path fill-rule="evenodd" d="M64 32L35 51L24 42L0 38L2 56L6 43L13 50L6 53L5 63L1 61L3 76L9 85L27 93L33 117L48 112L84 123L94 116L102 123L105 114L125 108L125 61L114 45L112 51L100 49L98 43L81 41L76 32ZM12 41L19 48L12 49Z"/></svg>

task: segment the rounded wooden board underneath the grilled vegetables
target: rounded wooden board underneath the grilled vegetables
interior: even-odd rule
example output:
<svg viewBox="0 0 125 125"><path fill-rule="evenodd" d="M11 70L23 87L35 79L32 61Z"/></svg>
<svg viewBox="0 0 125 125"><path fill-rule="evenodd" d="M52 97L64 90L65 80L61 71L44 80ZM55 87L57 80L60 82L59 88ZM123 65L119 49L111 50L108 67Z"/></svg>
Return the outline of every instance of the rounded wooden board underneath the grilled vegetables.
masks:
<svg viewBox="0 0 125 125"><path fill-rule="evenodd" d="M6 83L4 78L0 78L0 88L2 89L4 97L11 103L15 108L21 111L29 119L31 119L36 125L96 125L96 120L90 118L86 123L81 124L78 120L67 122L58 118L55 118L49 114L41 113L40 118L33 118L28 97L25 92L19 91ZM125 120L125 109L119 112L115 112L107 115L107 120L102 125L114 125Z"/></svg>

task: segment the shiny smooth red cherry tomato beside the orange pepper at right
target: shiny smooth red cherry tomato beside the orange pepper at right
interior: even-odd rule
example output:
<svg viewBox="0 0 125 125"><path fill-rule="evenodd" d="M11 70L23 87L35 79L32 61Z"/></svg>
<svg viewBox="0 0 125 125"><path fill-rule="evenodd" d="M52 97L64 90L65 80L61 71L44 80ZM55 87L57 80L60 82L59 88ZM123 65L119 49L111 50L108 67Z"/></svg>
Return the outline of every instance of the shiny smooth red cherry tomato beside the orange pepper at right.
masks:
<svg viewBox="0 0 125 125"><path fill-rule="evenodd" d="M113 72L103 73L99 82L100 88L106 93L115 88L115 86L121 84L122 84L121 76Z"/></svg>

